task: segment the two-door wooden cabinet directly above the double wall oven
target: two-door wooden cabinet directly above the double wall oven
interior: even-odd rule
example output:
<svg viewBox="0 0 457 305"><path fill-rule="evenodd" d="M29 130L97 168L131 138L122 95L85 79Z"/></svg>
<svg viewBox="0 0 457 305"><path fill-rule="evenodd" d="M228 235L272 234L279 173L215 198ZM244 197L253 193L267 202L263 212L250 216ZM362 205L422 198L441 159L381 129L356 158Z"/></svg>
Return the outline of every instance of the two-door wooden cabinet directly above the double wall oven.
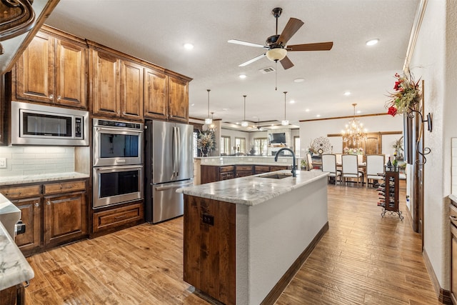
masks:
<svg viewBox="0 0 457 305"><path fill-rule="evenodd" d="M91 49L92 113L142 120L144 67L108 51Z"/></svg>

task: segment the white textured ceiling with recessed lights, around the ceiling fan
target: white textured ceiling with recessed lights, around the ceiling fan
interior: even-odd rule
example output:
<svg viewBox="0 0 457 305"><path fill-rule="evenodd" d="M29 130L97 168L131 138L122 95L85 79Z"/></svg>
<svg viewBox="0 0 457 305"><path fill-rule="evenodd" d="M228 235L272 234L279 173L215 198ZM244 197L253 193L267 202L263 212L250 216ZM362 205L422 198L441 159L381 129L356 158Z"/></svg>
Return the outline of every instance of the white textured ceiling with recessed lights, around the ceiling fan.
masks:
<svg viewBox="0 0 457 305"><path fill-rule="evenodd" d="M333 41L333 49L289 52L295 66L284 70L278 64L277 74L259 71L276 69L266 58L238 67L263 49L227 41L264 44L276 34L271 9L278 6L283 9L278 32L291 17L305 23L288 44ZM385 112L386 94L393 89L393 74L403 67L417 6L418 0L61 0L46 24L193 78L193 118L207 116L206 89L211 89L214 119L243 119L246 94L247 120L281 121L287 91L287 101L295 103L287 103L286 118L298 125L318 114L350 116L353 103L361 114ZM379 44L366 46L373 38L380 39ZM194 49L186 51L186 42ZM247 78L241 80L239 74ZM293 82L297 78L304 81Z"/></svg>

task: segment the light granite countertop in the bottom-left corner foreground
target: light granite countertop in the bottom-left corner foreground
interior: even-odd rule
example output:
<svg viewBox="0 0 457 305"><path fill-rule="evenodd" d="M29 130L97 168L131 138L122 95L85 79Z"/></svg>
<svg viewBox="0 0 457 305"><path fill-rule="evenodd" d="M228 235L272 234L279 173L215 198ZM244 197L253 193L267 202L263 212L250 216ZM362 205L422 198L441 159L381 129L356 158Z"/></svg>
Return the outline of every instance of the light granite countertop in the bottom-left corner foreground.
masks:
<svg viewBox="0 0 457 305"><path fill-rule="evenodd" d="M0 221L0 290L34 278L34 270Z"/></svg>

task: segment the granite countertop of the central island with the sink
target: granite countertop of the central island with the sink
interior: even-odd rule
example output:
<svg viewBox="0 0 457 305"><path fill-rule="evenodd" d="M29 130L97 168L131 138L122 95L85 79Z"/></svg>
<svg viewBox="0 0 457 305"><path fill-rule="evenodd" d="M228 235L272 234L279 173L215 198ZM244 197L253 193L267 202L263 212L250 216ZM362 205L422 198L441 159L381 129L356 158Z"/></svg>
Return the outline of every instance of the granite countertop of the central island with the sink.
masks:
<svg viewBox="0 0 457 305"><path fill-rule="evenodd" d="M190 196L255 206L276 196L285 194L293 189L310 184L318 179L326 178L328 173L322 171L297 171L296 178L292 176L283 179L269 179L261 176L269 174L287 173L291 171L272 171L267 174L258 174L236 179L211 182L198 186L189 186L176 190Z"/></svg>

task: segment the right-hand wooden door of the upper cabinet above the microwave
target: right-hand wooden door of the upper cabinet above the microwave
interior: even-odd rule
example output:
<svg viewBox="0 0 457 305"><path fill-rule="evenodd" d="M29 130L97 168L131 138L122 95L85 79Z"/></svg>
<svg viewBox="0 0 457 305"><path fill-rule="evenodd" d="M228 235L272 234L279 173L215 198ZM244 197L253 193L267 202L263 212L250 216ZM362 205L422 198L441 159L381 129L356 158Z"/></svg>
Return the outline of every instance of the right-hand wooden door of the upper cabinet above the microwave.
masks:
<svg viewBox="0 0 457 305"><path fill-rule="evenodd" d="M56 41L56 103L87 107L86 46L70 41Z"/></svg>

